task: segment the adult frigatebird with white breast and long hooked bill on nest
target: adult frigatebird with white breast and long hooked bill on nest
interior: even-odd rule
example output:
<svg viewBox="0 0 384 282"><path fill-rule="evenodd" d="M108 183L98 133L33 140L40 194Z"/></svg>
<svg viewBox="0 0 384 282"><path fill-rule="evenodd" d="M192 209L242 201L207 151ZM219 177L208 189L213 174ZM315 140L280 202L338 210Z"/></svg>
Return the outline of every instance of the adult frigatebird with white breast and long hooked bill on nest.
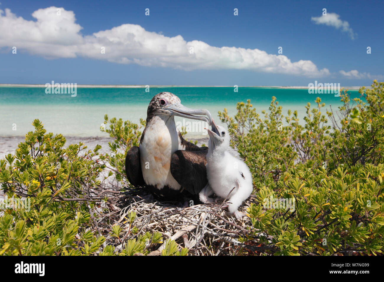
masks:
<svg viewBox="0 0 384 282"><path fill-rule="evenodd" d="M131 147L125 160L132 185L146 186L166 198L181 195L183 190L197 195L207 184L208 147L187 142L175 125L175 115L209 124L212 119L208 110L184 107L179 97L170 92L156 94L147 109L139 147Z"/></svg>

